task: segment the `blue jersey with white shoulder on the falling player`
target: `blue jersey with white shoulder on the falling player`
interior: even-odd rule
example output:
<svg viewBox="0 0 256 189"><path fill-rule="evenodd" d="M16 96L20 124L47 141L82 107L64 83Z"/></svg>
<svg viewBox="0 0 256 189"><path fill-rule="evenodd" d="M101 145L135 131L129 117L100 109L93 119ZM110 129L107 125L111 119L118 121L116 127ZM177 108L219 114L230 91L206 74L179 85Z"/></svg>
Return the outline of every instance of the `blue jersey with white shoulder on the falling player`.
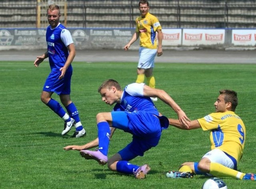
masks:
<svg viewBox="0 0 256 189"><path fill-rule="evenodd" d="M143 96L143 83L133 83L124 88L121 103L114 106L114 111L147 111L148 113L159 115L157 108L150 97Z"/></svg>

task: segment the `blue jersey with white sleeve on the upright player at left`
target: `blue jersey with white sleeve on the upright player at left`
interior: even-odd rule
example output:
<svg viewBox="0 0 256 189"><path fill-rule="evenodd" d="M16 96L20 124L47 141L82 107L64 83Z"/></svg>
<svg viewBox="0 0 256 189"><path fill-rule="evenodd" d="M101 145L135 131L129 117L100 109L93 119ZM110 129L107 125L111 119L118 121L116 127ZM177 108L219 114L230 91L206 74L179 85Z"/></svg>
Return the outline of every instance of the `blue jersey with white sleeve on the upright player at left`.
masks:
<svg viewBox="0 0 256 189"><path fill-rule="evenodd" d="M60 72L60 68L66 63L69 54L66 46L73 43L71 34L60 23L54 29L48 26L46 29L46 43L50 68L54 72ZM70 71L72 71L71 65L67 69L67 72Z"/></svg>

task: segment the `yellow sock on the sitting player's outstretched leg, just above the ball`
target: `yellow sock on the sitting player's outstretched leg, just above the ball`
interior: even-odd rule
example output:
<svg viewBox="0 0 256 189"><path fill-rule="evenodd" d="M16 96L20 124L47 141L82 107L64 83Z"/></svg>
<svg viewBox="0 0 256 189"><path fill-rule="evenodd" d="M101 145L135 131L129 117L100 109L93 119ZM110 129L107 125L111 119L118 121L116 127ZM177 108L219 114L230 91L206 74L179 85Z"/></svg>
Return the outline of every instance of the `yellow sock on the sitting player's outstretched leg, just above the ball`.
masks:
<svg viewBox="0 0 256 189"><path fill-rule="evenodd" d="M230 169L224 165L221 165L220 163L210 164L210 174L214 177L232 177L240 180L242 180L245 175L245 173Z"/></svg>

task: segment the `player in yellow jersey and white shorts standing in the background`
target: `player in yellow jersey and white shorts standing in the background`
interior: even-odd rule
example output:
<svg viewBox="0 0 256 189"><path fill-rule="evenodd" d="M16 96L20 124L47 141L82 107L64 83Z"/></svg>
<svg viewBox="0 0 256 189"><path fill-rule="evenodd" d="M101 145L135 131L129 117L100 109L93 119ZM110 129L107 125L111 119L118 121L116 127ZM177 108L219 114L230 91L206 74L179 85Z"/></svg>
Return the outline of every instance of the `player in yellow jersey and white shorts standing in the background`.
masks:
<svg viewBox="0 0 256 189"><path fill-rule="evenodd" d="M155 88L155 78L153 75L155 56L161 56L162 50L162 28L158 18L150 14L149 3L147 0L140 0L139 10L141 16L136 18L136 30L132 39L124 46L124 50L128 50L132 43L140 37L139 62L137 68L136 83L144 83L146 76L147 85ZM158 35L156 35L156 32ZM158 46L156 44L156 36L158 36ZM151 98L156 101L156 97Z"/></svg>

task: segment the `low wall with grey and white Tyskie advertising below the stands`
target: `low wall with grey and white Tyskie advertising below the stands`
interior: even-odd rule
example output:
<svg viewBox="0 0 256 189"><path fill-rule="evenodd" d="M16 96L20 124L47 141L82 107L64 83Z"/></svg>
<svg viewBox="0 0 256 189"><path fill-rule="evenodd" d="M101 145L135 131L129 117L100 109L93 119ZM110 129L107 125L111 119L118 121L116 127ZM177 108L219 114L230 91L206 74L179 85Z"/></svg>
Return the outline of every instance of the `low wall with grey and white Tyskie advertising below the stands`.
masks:
<svg viewBox="0 0 256 189"><path fill-rule="evenodd" d="M122 49L134 29L69 29L76 49ZM163 48L254 49L256 30L164 28ZM46 29L0 29L0 50L46 49ZM137 40L130 49L138 49Z"/></svg>

